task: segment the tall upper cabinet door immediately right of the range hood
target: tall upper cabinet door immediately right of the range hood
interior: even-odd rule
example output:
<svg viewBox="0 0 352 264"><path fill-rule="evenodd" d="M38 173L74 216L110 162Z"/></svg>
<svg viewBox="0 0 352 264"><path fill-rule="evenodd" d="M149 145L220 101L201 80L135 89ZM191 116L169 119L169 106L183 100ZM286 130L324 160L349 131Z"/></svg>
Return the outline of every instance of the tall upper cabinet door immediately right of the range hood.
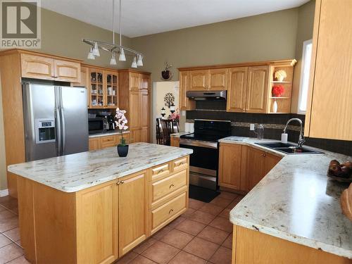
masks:
<svg viewBox="0 0 352 264"><path fill-rule="evenodd" d="M229 70L227 89L227 112L245 112L247 95L248 67Z"/></svg>

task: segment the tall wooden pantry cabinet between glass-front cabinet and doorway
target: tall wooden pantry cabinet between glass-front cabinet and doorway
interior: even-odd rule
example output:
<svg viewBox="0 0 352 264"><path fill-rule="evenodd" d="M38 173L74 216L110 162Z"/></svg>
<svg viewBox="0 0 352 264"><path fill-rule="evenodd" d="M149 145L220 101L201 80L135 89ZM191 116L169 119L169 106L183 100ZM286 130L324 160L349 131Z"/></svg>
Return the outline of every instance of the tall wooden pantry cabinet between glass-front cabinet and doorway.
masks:
<svg viewBox="0 0 352 264"><path fill-rule="evenodd" d="M119 106L127 111L130 142L149 142L150 75L121 70L119 80Z"/></svg>

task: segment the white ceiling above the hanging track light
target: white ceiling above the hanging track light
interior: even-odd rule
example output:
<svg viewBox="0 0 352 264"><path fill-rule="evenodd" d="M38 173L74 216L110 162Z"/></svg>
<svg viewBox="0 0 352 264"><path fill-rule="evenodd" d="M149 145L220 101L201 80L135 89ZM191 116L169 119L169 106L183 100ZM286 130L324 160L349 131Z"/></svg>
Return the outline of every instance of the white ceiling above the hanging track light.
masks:
<svg viewBox="0 0 352 264"><path fill-rule="evenodd" d="M269 13L309 0L122 0L122 34L139 37ZM113 0L42 0L42 7L112 30ZM115 0L115 32L118 32Z"/></svg>

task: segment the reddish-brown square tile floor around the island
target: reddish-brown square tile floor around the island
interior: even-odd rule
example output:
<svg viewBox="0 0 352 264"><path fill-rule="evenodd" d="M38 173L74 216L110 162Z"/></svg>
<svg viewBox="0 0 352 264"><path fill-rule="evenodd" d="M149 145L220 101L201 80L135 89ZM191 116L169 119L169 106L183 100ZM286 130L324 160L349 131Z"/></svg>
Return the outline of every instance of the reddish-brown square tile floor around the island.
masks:
<svg viewBox="0 0 352 264"><path fill-rule="evenodd" d="M243 196L222 191L210 203L189 199L182 216L127 253L116 264L231 263L230 210ZM0 264L29 263L23 256L18 229L18 204L0 197Z"/></svg>

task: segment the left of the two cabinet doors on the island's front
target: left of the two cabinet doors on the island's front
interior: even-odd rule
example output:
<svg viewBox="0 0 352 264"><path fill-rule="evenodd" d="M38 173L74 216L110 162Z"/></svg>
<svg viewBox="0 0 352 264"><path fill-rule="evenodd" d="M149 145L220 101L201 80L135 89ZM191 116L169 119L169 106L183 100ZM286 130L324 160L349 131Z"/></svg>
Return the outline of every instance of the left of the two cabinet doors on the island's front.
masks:
<svg viewBox="0 0 352 264"><path fill-rule="evenodd" d="M118 186L101 185L77 193L77 263L118 258Z"/></svg>

